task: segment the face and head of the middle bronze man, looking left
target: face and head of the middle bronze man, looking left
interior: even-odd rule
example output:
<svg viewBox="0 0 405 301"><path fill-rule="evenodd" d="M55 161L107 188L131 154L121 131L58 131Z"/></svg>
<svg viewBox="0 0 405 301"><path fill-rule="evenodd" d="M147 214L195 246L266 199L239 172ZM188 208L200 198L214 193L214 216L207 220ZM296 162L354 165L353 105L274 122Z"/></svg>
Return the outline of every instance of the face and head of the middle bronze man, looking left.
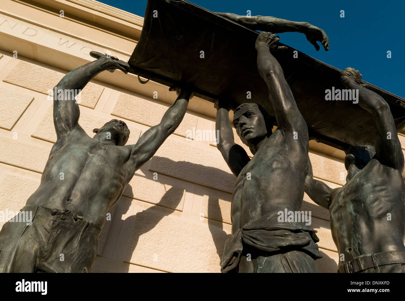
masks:
<svg viewBox="0 0 405 301"><path fill-rule="evenodd" d="M256 146L267 136L263 114L254 103L237 107L233 116L233 124L242 142L249 147Z"/></svg>

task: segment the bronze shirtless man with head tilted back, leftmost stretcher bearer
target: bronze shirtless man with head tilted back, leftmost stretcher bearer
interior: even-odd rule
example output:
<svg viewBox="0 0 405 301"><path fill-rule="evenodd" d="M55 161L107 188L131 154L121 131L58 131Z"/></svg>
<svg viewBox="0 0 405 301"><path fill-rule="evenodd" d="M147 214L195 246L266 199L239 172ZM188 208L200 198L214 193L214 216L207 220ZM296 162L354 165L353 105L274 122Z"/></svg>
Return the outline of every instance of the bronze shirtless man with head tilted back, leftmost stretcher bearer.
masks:
<svg viewBox="0 0 405 301"><path fill-rule="evenodd" d="M97 54L97 53L96 53ZM117 58L100 56L66 74L55 90L80 91L98 73L119 69ZM173 89L172 89L173 90ZM0 232L0 272L89 272L107 213L139 169L179 126L192 92L179 96L161 122L145 131L134 145L125 145L130 131L113 119L89 137L79 125L79 105L54 95L57 140L38 189L21 211L32 211L31 225L7 222ZM63 172L63 177L60 174Z"/></svg>

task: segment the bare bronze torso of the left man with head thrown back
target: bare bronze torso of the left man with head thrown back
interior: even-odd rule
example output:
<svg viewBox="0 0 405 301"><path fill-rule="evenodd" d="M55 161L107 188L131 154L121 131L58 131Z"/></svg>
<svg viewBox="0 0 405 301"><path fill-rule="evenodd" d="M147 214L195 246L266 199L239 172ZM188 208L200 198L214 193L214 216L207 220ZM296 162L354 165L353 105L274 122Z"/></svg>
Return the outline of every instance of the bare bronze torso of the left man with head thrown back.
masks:
<svg viewBox="0 0 405 301"><path fill-rule="evenodd" d="M77 126L53 146L40 186L27 204L69 209L102 227L133 176L125 166L129 157L129 147L102 146Z"/></svg>

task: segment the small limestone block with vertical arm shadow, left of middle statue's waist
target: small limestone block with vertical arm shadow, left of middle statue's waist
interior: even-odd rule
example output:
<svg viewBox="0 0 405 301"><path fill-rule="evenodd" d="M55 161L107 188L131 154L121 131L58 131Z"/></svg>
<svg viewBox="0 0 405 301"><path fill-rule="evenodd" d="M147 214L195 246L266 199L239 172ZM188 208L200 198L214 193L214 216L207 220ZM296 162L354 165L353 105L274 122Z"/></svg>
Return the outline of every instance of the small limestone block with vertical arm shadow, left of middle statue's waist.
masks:
<svg viewBox="0 0 405 301"><path fill-rule="evenodd" d="M205 195L203 199L203 214L204 217L223 221L227 224L232 224L231 216L231 199L223 200L217 196Z"/></svg>

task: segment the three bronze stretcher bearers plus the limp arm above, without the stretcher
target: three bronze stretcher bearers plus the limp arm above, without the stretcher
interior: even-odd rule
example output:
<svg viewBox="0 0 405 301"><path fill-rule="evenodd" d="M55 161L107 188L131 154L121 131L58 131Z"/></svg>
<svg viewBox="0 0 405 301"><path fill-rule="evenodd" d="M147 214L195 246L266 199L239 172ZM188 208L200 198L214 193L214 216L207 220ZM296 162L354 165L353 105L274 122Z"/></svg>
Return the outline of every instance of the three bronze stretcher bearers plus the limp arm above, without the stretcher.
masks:
<svg viewBox="0 0 405 301"><path fill-rule="evenodd" d="M237 177L232 195L232 235L226 241L222 272L318 272L322 255L316 231L303 221L279 221L280 211L299 211L304 191L330 211L339 272L405 272L404 157L386 101L362 85L358 71L347 68L342 83L358 89L358 105L373 116L375 143L346 151L346 184L331 189L313 178L309 135L279 62L271 52L279 38L270 32L301 32L318 50L329 48L325 32L305 22L274 17L220 13L259 34L257 68L267 85L274 121L256 103L234 109L233 125L252 154L234 142L229 101L218 100L218 149ZM267 32L269 31L269 32ZM56 86L81 90L98 73L119 69L117 58L99 56L66 74ZM32 225L6 223L0 232L1 272L89 272L97 254L98 236L109 209L119 200L134 172L175 131L192 97L190 88L172 88L177 100L162 121L145 131L134 145L125 145L129 129L111 120L89 137L79 125L79 106L72 97L54 96L57 141L38 189L24 211ZM389 138L388 138L389 137ZM64 173L63 180L60 173ZM64 260L60 260L64 254ZM343 259L342 259L343 258Z"/></svg>

